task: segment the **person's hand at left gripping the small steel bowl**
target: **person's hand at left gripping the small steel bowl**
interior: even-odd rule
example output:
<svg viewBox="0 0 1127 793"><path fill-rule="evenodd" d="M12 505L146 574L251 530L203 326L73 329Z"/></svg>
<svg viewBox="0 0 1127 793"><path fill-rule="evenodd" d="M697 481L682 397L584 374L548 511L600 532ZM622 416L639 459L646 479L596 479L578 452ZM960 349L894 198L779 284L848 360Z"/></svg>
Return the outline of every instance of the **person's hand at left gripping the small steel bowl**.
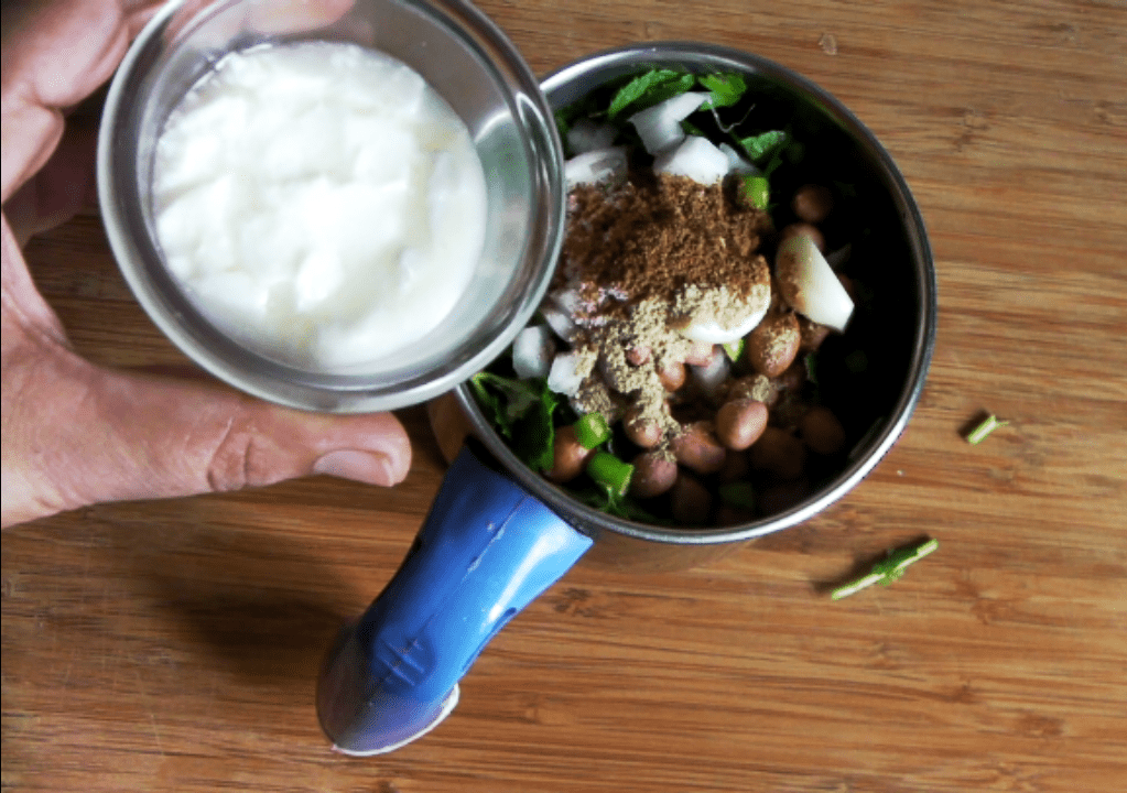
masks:
<svg viewBox="0 0 1127 793"><path fill-rule="evenodd" d="M388 413L307 413L203 380L95 366L35 288L17 240L73 215L94 180L90 141L68 134L64 113L109 79L149 11L113 0L3 6L5 527L311 473L391 485L410 465Z"/></svg>

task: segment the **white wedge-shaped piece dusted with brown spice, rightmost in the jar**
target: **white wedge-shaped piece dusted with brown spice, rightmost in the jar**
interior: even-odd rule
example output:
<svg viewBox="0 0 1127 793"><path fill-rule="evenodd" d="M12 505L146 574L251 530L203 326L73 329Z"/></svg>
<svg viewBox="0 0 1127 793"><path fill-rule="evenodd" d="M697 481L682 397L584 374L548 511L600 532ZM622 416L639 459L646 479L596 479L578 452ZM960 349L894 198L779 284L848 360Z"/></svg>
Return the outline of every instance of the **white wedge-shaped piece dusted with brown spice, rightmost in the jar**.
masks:
<svg viewBox="0 0 1127 793"><path fill-rule="evenodd" d="M775 277L795 311L837 332L845 330L853 301L809 237L799 234L779 246Z"/></svg>

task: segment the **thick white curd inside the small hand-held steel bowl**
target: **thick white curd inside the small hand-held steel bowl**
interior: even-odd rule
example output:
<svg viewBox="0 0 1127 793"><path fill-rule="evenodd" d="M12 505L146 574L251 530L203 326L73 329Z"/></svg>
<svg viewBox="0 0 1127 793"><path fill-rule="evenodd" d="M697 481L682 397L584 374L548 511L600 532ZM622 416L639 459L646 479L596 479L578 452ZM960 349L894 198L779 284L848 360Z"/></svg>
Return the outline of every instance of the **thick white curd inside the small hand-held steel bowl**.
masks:
<svg viewBox="0 0 1127 793"><path fill-rule="evenodd" d="M328 372L443 321L486 204L464 123L406 64L352 44L228 55L169 115L153 164L158 241L199 309Z"/></svg>

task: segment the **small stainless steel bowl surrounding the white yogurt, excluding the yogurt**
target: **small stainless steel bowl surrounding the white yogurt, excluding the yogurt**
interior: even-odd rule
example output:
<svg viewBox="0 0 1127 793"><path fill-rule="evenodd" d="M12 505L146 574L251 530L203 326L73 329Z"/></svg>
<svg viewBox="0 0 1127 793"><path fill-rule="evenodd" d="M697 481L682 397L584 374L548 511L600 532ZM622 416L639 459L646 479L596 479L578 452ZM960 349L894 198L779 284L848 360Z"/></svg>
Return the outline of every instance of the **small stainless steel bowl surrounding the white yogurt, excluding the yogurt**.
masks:
<svg viewBox="0 0 1127 793"><path fill-rule="evenodd" d="M137 36L110 86L99 139L106 230L153 321L232 385L321 411L421 402L486 366L535 311L564 222L559 136L512 43L458 0L286 3L281 10L265 0L228 0L199 7L174 2ZM355 42L421 73L468 125L487 178L485 251L454 313L409 348L347 374L287 365L218 330L169 274L153 230L152 155L169 110L228 53L310 39Z"/></svg>

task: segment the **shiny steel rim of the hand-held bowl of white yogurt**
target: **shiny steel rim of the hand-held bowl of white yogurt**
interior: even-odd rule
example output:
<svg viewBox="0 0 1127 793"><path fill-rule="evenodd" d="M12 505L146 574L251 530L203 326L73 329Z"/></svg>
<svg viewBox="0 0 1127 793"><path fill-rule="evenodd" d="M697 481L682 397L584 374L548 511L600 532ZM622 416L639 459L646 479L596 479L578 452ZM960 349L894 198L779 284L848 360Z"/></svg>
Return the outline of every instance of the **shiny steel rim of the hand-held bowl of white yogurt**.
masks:
<svg viewBox="0 0 1127 793"><path fill-rule="evenodd" d="M127 222L128 210L124 208L130 191L128 179L118 172L121 154L115 151L115 142L135 113L130 96L131 86L137 80L154 79L153 74L145 72L145 59L152 55L154 48L168 46L161 41L167 30L190 29L206 16L241 1L224 0L193 8L192 0L172 0L150 18L114 73L98 134L96 167L103 225L118 269L148 317L181 353L219 380L259 399L290 408L361 413L419 404L449 391L500 354L529 321L549 287L564 243L564 148L535 73L508 36L476 6L460 0L392 0L390 5L403 8L405 12L425 14L437 27L453 30L452 35L460 37L474 57L481 60L487 71L495 75L498 90L505 95L513 119L521 127L520 137L529 161L530 232L522 256L534 259L535 268L527 276L514 278L511 288L503 295L517 303L511 324L498 324L477 346L469 345L467 340L450 349L444 357L432 356L436 364L434 368L415 371L400 366L394 369L396 380L391 382L371 374L307 371L269 359L229 339L206 320L206 327L194 328L193 320L178 308L179 303L189 302L183 291L180 297L168 297L167 291L153 283L148 273L153 265L147 248L156 250L157 243L142 244L133 239ZM508 75L513 83L507 83L500 72ZM193 306L192 313L199 312ZM221 339L222 349L208 345L208 338ZM252 366L242 365L245 359L265 362L265 366L256 371ZM449 369L443 368L446 365Z"/></svg>

